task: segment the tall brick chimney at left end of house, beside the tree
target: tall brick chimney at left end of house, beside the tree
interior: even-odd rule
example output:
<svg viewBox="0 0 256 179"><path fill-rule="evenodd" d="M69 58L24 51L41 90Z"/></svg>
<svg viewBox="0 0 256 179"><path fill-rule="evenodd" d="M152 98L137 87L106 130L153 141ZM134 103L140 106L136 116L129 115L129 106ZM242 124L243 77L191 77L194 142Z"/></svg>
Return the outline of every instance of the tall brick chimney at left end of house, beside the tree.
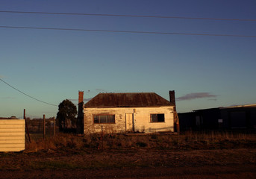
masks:
<svg viewBox="0 0 256 179"><path fill-rule="evenodd" d="M76 124L77 133L84 134L84 92L78 91L78 120Z"/></svg>

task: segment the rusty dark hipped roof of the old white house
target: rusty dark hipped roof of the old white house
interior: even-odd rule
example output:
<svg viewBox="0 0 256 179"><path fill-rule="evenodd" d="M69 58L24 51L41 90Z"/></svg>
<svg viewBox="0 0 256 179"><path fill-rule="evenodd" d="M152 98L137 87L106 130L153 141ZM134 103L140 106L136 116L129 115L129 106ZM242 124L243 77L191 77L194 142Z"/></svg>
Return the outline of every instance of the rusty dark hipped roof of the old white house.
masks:
<svg viewBox="0 0 256 179"><path fill-rule="evenodd" d="M84 107L157 107L173 106L154 92L99 93Z"/></svg>

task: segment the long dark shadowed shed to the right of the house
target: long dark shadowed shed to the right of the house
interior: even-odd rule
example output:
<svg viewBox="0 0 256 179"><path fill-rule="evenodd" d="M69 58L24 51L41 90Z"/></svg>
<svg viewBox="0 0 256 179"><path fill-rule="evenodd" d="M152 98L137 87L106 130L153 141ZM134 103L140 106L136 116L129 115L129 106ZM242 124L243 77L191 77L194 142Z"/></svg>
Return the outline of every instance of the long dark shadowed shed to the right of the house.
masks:
<svg viewBox="0 0 256 179"><path fill-rule="evenodd" d="M179 113L184 130L233 130L256 128L256 104L216 107Z"/></svg>

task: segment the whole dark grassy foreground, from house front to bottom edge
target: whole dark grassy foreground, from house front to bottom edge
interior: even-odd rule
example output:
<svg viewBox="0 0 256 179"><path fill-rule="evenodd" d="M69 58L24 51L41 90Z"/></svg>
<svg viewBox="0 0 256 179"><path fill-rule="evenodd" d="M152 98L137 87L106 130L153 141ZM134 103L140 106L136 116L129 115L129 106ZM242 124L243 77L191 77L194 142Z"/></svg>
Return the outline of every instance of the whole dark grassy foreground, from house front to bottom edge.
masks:
<svg viewBox="0 0 256 179"><path fill-rule="evenodd" d="M0 153L0 178L255 178L256 135L31 135L24 152Z"/></svg>

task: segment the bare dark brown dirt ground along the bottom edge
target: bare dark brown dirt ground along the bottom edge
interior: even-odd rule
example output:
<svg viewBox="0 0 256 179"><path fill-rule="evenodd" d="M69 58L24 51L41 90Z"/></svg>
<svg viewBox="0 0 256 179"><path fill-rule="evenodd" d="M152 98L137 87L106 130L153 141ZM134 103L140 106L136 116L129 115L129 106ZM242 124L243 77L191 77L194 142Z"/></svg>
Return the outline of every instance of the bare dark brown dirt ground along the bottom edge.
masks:
<svg viewBox="0 0 256 179"><path fill-rule="evenodd" d="M0 178L256 178L256 148L1 153Z"/></svg>

